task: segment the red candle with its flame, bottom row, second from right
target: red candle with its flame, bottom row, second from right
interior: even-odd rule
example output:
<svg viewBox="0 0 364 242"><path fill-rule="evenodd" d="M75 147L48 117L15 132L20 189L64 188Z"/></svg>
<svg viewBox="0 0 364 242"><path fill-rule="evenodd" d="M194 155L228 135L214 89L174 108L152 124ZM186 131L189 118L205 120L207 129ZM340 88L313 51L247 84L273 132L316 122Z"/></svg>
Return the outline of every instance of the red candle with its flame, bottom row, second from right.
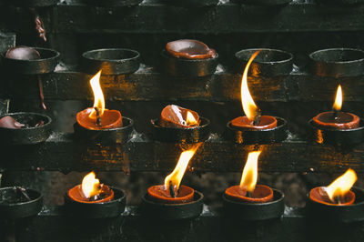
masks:
<svg viewBox="0 0 364 242"><path fill-rule="evenodd" d="M257 185L258 180L258 156L261 151L248 154L247 164L241 176L240 185L228 187L225 196L231 200L245 203L267 203L273 199L272 188L265 185Z"/></svg>

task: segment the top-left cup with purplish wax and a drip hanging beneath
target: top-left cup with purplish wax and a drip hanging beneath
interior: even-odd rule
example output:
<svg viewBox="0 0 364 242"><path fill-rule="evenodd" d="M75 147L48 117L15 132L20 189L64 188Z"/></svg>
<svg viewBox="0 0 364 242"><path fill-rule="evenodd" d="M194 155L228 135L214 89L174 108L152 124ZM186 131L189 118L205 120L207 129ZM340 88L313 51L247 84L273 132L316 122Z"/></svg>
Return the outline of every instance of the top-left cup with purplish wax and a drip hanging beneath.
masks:
<svg viewBox="0 0 364 242"><path fill-rule="evenodd" d="M46 109L41 75L53 72L58 64L58 58L59 53L53 49L20 45L8 49L4 66L9 75L19 76L19 82L24 79L21 75L36 76L41 105Z"/></svg>

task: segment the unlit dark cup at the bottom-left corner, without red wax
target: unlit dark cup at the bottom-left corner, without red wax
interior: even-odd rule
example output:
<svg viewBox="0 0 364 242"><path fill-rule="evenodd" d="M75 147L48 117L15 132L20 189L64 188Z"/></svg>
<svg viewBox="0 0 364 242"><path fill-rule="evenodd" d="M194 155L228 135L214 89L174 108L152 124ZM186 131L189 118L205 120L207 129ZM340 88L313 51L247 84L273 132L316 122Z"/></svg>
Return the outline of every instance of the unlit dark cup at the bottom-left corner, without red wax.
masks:
<svg viewBox="0 0 364 242"><path fill-rule="evenodd" d="M43 207L43 196L25 187L0 188L1 218L18 219L36 216Z"/></svg>

